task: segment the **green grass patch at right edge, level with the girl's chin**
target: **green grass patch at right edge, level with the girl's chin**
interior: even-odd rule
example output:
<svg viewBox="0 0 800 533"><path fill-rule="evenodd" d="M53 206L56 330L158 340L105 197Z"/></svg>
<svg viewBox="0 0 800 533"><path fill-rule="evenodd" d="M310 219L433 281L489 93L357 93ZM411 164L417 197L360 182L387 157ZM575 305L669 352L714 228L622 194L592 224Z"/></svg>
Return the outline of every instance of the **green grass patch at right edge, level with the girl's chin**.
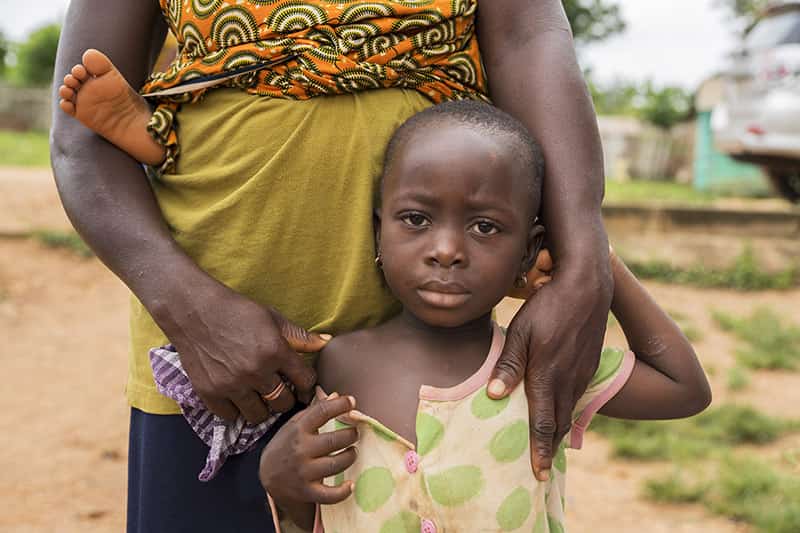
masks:
<svg viewBox="0 0 800 533"><path fill-rule="evenodd" d="M800 368L800 327L786 323L774 311L762 307L745 318L722 311L713 311L712 316L742 342L736 349L740 365L768 370Z"/></svg>

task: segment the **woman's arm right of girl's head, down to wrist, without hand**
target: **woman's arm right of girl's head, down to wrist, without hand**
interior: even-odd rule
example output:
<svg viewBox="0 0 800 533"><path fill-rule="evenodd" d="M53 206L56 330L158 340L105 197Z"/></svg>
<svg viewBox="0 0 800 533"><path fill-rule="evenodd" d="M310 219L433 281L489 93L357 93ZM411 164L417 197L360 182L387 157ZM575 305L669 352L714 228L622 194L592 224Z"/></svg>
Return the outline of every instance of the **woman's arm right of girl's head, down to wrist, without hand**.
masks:
<svg viewBox="0 0 800 533"><path fill-rule="evenodd" d="M602 272L608 264L603 155L561 2L493 0L478 9L492 100L522 121L544 151L542 214L556 264Z"/></svg>

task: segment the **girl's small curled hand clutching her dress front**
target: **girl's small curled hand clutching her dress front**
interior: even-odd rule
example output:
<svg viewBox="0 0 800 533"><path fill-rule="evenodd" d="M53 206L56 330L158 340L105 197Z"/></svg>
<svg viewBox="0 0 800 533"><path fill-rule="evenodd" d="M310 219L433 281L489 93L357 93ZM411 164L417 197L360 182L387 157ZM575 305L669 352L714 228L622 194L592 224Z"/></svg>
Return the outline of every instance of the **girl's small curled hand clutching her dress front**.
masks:
<svg viewBox="0 0 800 533"><path fill-rule="evenodd" d="M322 480L344 472L356 460L353 445L358 441L358 431L350 427L319 433L319 428L355 405L352 396L334 393L293 416L261 452L259 479L279 507L330 505L350 496L352 481L329 487Z"/></svg>

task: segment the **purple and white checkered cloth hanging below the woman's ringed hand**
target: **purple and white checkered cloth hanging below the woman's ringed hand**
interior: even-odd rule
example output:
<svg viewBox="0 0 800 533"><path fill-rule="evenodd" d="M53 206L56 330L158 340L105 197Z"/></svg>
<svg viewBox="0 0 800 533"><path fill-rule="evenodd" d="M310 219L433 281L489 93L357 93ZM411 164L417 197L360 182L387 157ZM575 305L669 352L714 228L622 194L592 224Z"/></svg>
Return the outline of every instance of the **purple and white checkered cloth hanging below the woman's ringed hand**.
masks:
<svg viewBox="0 0 800 533"><path fill-rule="evenodd" d="M172 345L150 350L150 366L153 367L158 392L178 403L183 417L197 436L211 448L206 465L197 476L200 481L213 479L229 456L252 448L278 419L279 415L273 415L260 424L249 424L239 416L229 422L209 411L203 400L195 394L180 356Z"/></svg>

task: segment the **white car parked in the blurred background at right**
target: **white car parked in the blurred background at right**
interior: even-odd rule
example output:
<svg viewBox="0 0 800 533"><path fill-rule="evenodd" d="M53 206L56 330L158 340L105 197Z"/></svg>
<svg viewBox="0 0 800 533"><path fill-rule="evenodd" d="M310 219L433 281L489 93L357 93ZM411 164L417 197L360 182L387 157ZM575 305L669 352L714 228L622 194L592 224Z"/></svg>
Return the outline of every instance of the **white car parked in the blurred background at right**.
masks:
<svg viewBox="0 0 800 533"><path fill-rule="evenodd" d="M800 1L767 8L725 74L714 143L763 166L778 192L800 202Z"/></svg>

